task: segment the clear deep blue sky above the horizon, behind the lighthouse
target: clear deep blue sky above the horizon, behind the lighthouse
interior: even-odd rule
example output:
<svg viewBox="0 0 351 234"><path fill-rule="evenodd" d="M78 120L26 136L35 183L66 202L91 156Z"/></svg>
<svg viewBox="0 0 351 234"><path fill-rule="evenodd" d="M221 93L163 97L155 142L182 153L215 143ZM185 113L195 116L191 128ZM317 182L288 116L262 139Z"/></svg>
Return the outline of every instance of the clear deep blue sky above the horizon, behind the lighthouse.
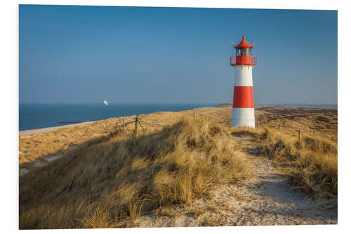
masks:
<svg viewBox="0 0 351 234"><path fill-rule="evenodd" d="M255 103L337 103L337 11L20 5L20 103L231 102L232 41Z"/></svg>

